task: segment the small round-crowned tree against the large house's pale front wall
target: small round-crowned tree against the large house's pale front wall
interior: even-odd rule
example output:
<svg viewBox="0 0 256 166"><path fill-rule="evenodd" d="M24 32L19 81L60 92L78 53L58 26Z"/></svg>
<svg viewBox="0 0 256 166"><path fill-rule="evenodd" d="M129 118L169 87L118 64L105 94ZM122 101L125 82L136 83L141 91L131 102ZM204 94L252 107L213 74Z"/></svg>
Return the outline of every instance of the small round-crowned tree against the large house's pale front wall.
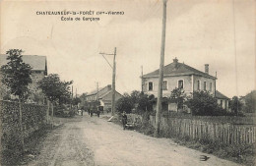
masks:
<svg viewBox="0 0 256 166"><path fill-rule="evenodd" d="M170 92L170 100L177 104L177 110L182 108L186 95L182 88L176 87Z"/></svg>

